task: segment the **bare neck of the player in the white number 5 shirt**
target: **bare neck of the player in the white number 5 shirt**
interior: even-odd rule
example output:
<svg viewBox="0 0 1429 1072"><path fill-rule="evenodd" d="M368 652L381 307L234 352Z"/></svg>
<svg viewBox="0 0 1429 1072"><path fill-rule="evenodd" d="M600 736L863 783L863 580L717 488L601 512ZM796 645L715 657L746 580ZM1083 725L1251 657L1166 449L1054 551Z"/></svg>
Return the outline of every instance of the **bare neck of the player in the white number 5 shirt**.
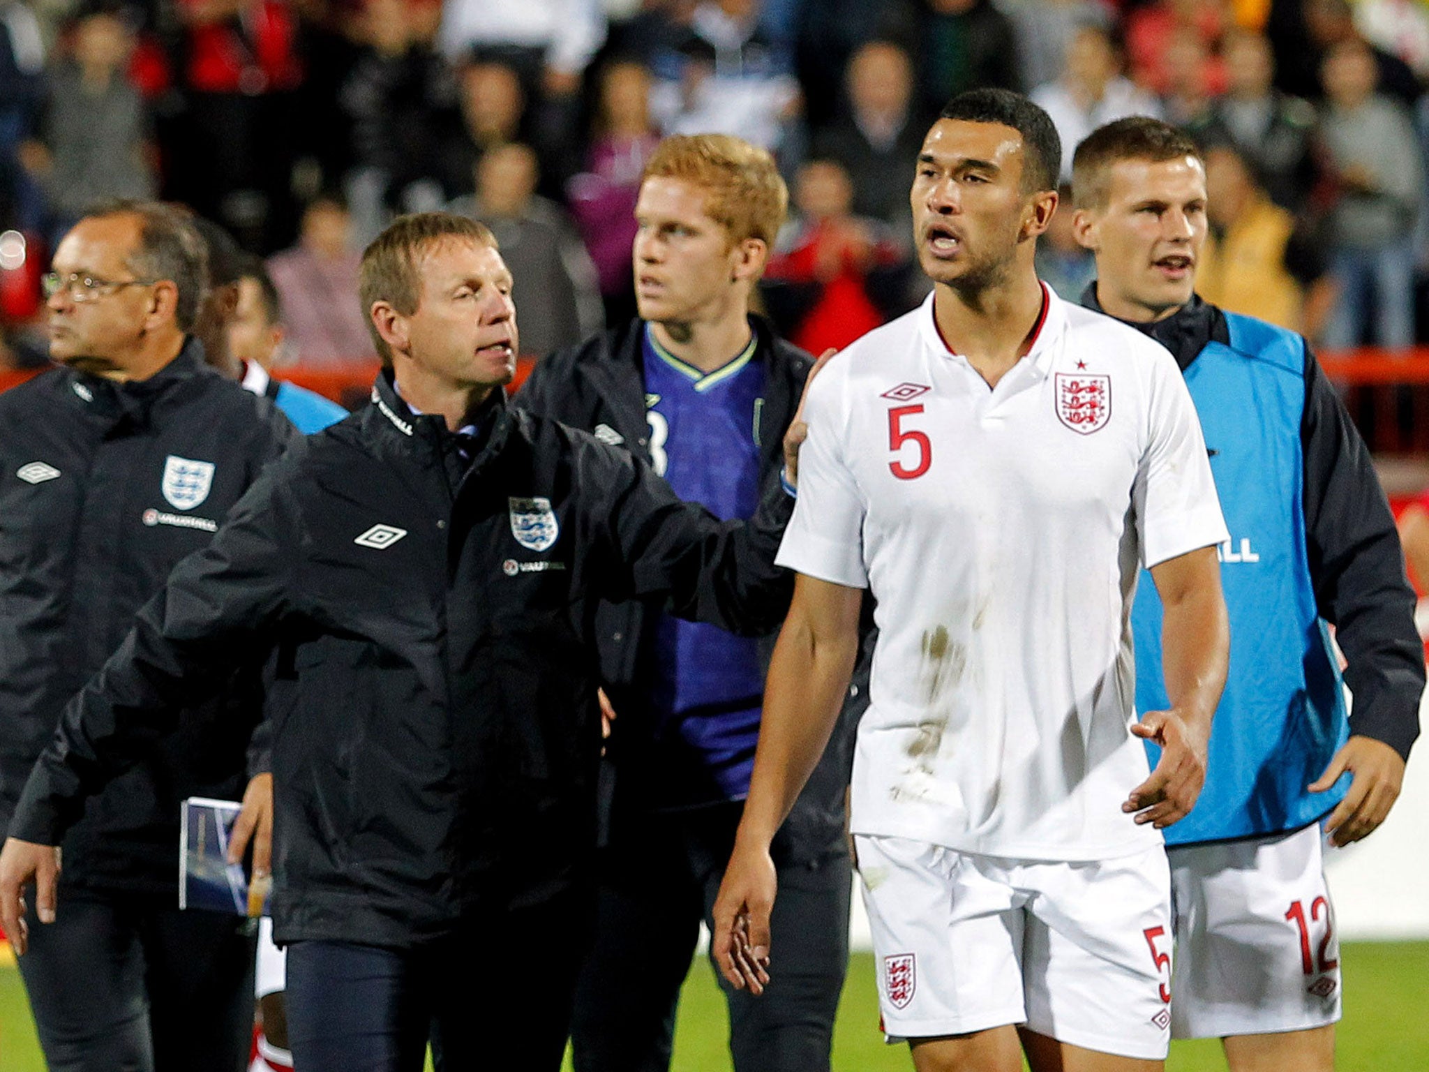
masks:
<svg viewBox="0 0 1429 1072"><path fill-rule="evenodd" d="M939 283L933 293L933 320L953 353L996 387L997 380L1032 349L1032 333L1042 317L1046 294L1036 273L1013 269L1003 286L976 294Z"/></svg>

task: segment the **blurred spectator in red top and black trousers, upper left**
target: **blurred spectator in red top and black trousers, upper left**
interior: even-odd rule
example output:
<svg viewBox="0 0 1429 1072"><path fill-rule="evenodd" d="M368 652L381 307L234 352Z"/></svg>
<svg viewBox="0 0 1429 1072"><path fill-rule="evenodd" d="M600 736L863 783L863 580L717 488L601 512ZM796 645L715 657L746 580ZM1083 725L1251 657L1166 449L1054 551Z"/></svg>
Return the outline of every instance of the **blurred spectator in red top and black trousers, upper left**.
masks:
<svg viewBox="0 0 1429 1072"><path fill-rule="evenodd" d="M287 0L177 0L187 27L176 194L249 249L293 233L293 94L303 80Z"/></svg>

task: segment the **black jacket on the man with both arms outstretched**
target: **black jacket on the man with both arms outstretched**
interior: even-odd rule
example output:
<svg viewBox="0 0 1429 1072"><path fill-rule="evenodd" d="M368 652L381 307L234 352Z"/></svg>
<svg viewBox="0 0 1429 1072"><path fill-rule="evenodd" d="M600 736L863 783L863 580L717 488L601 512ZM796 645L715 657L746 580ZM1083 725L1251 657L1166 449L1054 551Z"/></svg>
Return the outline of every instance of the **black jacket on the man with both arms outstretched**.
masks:
<svg viewBox="0 0 1429 1072"><path fill-rule="evenodd" d="M773 566L792 502L722 523L499 393L460 465L389 376L269 469L144 606L66 709L13 833L53 843L139 742L276 639L280 943L413 948L590 885L597 600L663 595L769 629L792 587Z"/></svg>

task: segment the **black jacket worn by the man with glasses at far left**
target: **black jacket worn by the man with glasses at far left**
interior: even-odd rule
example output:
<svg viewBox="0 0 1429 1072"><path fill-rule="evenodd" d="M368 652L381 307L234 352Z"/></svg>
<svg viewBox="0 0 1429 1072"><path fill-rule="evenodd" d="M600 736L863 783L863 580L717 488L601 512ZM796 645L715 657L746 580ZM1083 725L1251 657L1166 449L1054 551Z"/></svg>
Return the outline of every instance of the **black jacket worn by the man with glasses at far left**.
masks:
<svg viewBox="0 0 1429 1072"><path fill-rule="evenodd" d="M296 437L193 339L139 383L56 369L0 394L0 833L66 702ZM187 483L183 463L196 463ZM123 778L69 829L63 882L173 898L179 800L243 793L260 713L260 682L243 675L180 732L136 739Z"/></svg>

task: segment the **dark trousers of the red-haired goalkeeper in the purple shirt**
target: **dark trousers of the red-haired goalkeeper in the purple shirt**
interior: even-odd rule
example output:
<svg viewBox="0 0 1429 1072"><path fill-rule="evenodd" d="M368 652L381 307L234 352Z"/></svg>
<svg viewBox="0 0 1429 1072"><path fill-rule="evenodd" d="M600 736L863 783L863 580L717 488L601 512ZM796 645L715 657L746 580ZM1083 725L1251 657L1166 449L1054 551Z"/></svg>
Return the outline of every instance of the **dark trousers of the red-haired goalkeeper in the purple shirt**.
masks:
<svg viewBox="0 0 1429 1072"><path fill-rule="evenodd" d="M596 946L576 989L577 1072L666 1072L680 983L735 845L739 802L652 815L603 849ZM795 863L776 839L772 982L729 1002L736 1072L829 1068L849 961L849 858Z"/></svg>

